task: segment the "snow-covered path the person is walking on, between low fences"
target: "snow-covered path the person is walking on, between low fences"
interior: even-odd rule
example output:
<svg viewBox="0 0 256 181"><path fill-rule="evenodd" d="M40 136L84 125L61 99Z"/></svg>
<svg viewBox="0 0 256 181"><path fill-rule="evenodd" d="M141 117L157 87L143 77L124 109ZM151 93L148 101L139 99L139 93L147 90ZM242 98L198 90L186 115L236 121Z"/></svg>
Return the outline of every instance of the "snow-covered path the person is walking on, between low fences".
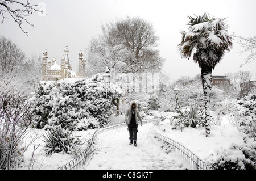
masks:
<svg viewBox="0 0 256 181"><path fill-rule="evenodd" d="M127 127L98 134L98 146L92 160L85 169L104 170L154 170L189 169L189 165L175 152L165 153L161 142L154 138L151 123L138 127L138 146L129 145Z"/></svg>

